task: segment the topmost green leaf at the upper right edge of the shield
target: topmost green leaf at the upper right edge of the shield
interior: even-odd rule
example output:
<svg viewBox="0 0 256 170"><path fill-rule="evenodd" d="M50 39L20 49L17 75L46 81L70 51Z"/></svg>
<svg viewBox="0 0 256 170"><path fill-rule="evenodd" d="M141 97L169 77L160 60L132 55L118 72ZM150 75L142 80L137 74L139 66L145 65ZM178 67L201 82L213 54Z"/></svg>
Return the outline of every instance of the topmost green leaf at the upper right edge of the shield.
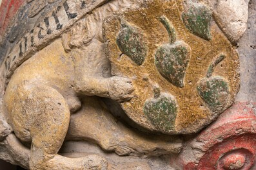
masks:
<svg viewBox="0 0 256 170"><path fill-rule="evenodd" d="M188 10L182 13L182 20L192 33L204 38L211 39L210 22L212 19L211 10L199 3L189 4Z"/></svg>

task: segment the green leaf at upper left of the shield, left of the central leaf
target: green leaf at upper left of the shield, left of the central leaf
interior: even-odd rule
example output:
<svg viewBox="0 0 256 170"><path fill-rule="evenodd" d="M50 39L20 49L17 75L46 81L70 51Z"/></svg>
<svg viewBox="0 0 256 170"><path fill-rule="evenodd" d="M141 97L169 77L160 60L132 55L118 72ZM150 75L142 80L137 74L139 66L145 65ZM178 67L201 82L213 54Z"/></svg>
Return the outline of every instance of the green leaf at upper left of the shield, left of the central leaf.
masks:
<svg viewBox="0 0 256 170"><path fill-rule="evenodd" d="M121 31L117 36L117 46L124 55L129 56L137 65L143 64L147 53L147 41L143 31L121 22Z"/></svg>

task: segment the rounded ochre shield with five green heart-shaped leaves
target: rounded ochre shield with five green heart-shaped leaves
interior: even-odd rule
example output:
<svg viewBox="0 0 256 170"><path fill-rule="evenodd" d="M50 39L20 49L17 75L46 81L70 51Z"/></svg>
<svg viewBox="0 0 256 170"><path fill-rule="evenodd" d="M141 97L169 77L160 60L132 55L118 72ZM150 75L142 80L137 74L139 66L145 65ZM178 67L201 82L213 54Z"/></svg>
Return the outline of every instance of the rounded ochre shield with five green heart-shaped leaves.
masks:
<svg viewBox="0 0 256 170"><path fill-rule="evenodd" d="M144 3L106 19L103 35L112 74L135 87L121 106L144 128L195 133L233 103L239 56L204 4Z"/></svg>

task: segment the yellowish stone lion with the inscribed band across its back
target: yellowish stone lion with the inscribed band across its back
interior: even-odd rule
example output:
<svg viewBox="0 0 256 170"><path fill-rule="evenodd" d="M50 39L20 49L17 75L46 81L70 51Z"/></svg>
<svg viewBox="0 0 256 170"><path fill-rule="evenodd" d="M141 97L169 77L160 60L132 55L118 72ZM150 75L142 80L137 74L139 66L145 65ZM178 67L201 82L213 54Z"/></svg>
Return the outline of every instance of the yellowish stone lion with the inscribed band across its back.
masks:
<svg viewBox="0 0 256 170"><path fill-rule="evenodd" d="M54 38L55 31L64 28L63 18L61 17L67 20L77 17L79 12L72 13L70 8L72 5L77 6L79 2L72 5L70 3L72 2L64 1L63 3L62 12L66 16L59 16L56 13L53 15L50 12L52 18L46 17L42 23L36 25L21 40L21 43L17 43L17 46L11 52L13 57L8 56L5 64L1 67L2 69L5 67L6 71L8 70L7 72L13 72L13 68L17 67L14 74L5 74L5 78L9 77L10 81L5 81L7 87L3 89L5 90L3 108L5 119L12 126L15 137L28 146L32 146L28 155L29 162L23 162L24 164L21 165L29 169L92 169L93 167L95 169L150 169L148 164L137 164L136 166L109 164L110 160L92 154L73 159L60 157L57 151L63 144L66 133L68 133L68 139L77 132L79 132L79 135L75 135L72 139L94 139L103 149L114 151L118 155L146 154L149 157L150 155L179 153L182 147L179 138L173 137L172 142L169 142L170 139L167 139L167 137L157 137L157 140L160 139L159 142L164 142L161 142L161 145L155 144L155 140L152 141L155 137L152 136L152 139L148 139L148 136L143 133L135 133L124 126L117 126L113 123L115 122L113 117L109 116L104 118L106 122L110 121L112 123L106 123L104 128L99 126L101 123L95 127L88 123L88 127L92 128L92 132L97 131L98 128L102 128L102 130L108 128L121 130L111 131L110 136L113 136L111 140L107 135L95 136L93 133L89 133L91 132L90 128L85 128L84 123L79 124L80 114L77 114L79 119L75 119L77 120L75 126L70 125L70 128L75 128L77 132L72 132L72 130L68 132L70 113L78 112L83 106L80 97L77 96L96 95L122 102L133 97L131 94L133 87L130 79L111 76L110 64L104 55L101 31L93 30L94 28L101 30L103 19L117 10L112 9L113 5L121 8L132 3L113 1L106 6L102 6L94 11L94 15L88 15L86 19L81 19L81 21L74 24L62 37L58 35L59 37L55 38L52 43L42 46L40 40L44 40L46 36ZM83 6L83 3L80 5ZM97 4L95 5L97 6ZM59 7L58 9L61 10ZM54 22L52 22L52 19L54 19ZM61 24L63 26L58 26ZM31 53L30 50L34 51L35 48L41 47L43 49L34 53L32 58L26 56ZM15 53L18 55L15 56ZM27 74L28 71L30 74ZM85 74L88 76L84 76ZM100 101L96 102L100 103ZM15 103L15 105L12 105L12 103ZM97 110L97 108L104 110L101 105L93 106L94 114L90 114L94 115L92 122L102 121L102 119L95 118L97 113L95 109ZM90 112L89 110L83 110L82 113ZM55 115L55 113L58 113L58 115ZM86 117L83 120L88 121ZM79 127L77 127L78 124ZM88 129L88 133L80 133L84 129ZM113 133L124 134L126 138L117 140ZM5 140L6 135L3 136L3 140ZM128 139L128 136L131 138ZM137 139L133 139L135 136L137 136ZM120 135L119 139L121 139ZM12 145L12 143L9 144ZM113 147L113 144L115 147ZM147 145L144 146L144 144ZM25 153L25 148L19 149L24 150ZM15 149L14 153L8 154L23 158L24 155L21 154L19 149ZM17 159L17 161L26 161L26 158L25 160ZM15 163L16 160L10 161ZM90 161L92 162L90 163Z"/></svg>

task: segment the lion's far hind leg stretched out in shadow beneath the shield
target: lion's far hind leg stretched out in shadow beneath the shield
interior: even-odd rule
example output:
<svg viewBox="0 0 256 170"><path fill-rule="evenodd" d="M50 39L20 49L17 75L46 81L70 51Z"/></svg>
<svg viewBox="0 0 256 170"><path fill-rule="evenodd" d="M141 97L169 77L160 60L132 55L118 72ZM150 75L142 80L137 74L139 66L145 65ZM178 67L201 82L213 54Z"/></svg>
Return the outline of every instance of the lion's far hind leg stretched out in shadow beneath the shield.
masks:
<svg viewBox="0 0 256 170"><path fill-rule="evenodd" d="M67 140L90 139L104 150L115 151L122 156L152 157L181 151L182 140L179 138L172 137L172 142L168 142L169 136L147 135L118 123L108 110L104 110L104 104L99 98L83 99L83 103L83 108L71 115Z"/></svg>

